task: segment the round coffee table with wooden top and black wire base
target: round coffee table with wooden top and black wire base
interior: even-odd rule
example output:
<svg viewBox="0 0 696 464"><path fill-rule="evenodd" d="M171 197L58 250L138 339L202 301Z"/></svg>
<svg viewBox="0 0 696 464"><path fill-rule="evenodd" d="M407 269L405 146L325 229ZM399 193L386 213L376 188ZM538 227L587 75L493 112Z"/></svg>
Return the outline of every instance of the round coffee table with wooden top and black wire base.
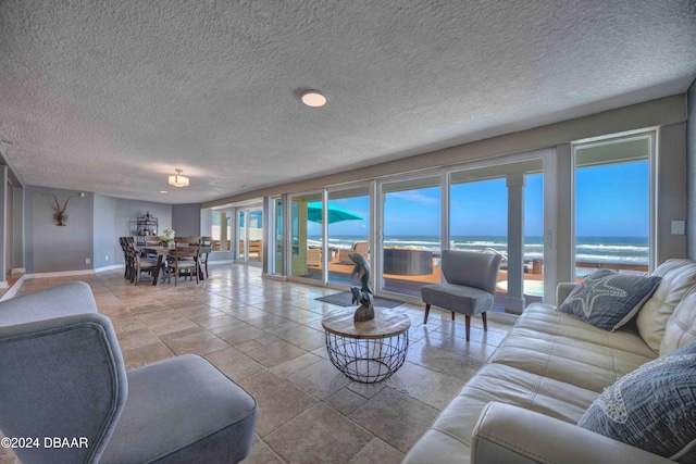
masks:
<svg viewBox="0 0 696 464"><path fill-rule="evenodd" d="M355 312L356 308L332 311L322 319L328 358L351 380L382 381L406 361L411 319L398 311L375 306L374 319L357 323Z"/></svg>

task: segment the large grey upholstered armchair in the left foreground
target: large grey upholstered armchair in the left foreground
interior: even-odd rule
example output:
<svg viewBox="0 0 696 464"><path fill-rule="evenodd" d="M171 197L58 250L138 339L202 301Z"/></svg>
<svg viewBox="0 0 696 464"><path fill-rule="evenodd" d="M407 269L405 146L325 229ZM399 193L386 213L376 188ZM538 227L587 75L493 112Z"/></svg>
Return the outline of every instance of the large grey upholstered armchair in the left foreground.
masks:
<svg viewBox="0 0 696 464"><path fill-rule="evenodd" d="M24 464L238 462L257 417L254 399L200 356L126 373L84 283L0 303L0 429L37 439L14 450Z"/></svg>

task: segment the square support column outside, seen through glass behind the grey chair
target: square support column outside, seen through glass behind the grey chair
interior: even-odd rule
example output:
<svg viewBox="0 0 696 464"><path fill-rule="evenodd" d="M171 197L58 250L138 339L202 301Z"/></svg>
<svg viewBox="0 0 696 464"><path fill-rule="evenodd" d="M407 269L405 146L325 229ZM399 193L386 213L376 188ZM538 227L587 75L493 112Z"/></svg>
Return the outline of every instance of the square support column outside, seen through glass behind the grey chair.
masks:
<svg viewBox="0 0 696 464"><path fill-rule="evenodd" d="M524 310L522 283L524 277L524 173L508 174L508 296L505 309L514 313Z"/></svg>

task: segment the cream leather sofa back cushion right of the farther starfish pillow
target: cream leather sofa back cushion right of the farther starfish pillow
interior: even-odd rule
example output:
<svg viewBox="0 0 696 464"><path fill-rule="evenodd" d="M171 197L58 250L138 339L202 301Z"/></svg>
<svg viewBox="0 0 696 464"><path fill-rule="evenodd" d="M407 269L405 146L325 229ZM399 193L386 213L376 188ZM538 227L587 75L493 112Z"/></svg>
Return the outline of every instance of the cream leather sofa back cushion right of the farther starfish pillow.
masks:
<svg viewBox="0 0 696 464"><path fill-rule="evenodd" d="M662 280L638 312L636 326L648 347L658 353L667 321L684 294L696 285L696 261L667 260L652 275Z"/></svg>

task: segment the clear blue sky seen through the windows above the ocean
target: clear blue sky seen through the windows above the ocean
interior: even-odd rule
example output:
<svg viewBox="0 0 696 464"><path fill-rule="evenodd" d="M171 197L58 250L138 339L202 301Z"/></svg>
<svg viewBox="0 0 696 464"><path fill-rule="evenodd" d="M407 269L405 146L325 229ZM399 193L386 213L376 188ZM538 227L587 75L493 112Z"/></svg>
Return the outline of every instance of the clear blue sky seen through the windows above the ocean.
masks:
<svg viewBox="0 0 696 464"><path fill-rule="evenodd" d="M579 237L647 237L648 162L585 167L576 174ZM507 234L505 179L459 184L451 190L452 236ZM385 235L439 235L438 187L391 192L385 203ZM361 215L363 221L330 224L330 236L362 235L370 229L368 197L332 200L332 205ZM543 235L543 176L530 175L525 188L525 235ZM310 235L321 226L310 224Z"/></svg>

